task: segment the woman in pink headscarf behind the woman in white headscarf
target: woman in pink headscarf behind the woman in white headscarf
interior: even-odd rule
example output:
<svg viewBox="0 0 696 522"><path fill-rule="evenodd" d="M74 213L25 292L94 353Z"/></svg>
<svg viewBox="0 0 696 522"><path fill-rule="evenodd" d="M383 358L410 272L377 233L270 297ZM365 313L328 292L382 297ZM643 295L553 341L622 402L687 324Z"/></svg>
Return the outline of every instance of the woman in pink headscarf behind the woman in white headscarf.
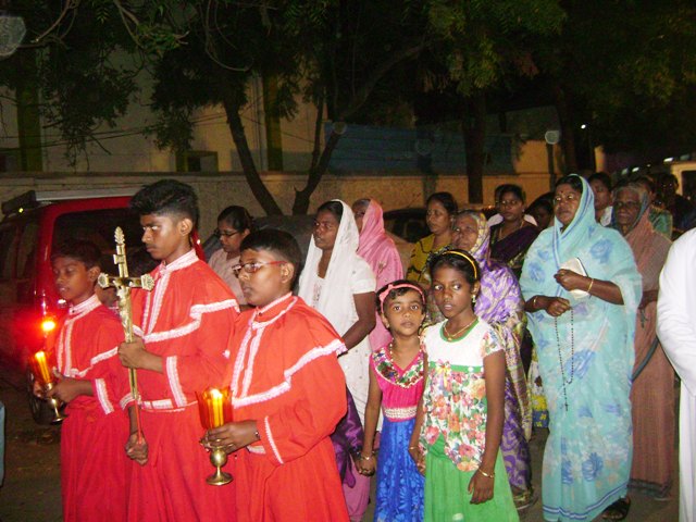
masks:
<svg viewBox="0 0 696 522"><path fill-rule="evenodd" d="M359 199L352 203L356 225L360 232L358 256L364 259L377 279L376 288L403 278L401 257L384 228L384 211L374 199ZM377 350L391 340L389 331L382 321L375 319L375 327L370 332L370 346Z"/></svg>

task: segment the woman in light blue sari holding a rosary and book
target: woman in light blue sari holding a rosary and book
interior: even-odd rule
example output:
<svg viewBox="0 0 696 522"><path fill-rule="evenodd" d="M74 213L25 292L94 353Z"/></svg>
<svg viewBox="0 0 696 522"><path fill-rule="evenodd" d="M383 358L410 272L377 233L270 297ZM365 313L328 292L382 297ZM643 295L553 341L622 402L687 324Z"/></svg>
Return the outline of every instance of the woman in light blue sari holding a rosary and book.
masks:
<svg viewBox="0 0 696 522"><path fill-rule="evenodd" d="M606 509L605 518L622 520L641 275L623 237L595 221L585 179L562 177L554 210L554 226L530 248L520 279L550 418L544 519L589 521Z"/></svg>

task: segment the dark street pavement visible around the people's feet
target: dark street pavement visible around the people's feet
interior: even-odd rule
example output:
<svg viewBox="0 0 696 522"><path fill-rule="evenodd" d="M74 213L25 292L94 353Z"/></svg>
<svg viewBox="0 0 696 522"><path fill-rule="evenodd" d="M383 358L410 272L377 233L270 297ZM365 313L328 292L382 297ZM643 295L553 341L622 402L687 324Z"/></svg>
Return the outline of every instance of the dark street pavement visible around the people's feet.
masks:
<svg viewBox="0 0 696 522"><path fill-rule="evenodd" d="M28 410L23 376L0 368L0 400L7 409L5 477L0 487L0 522L53 522L62 520L60 490L60 427L39 426ZM534 434L531 442L533 483L536 502L520 513L522 522L542 522L540 469L547 432ZM676 459L674 462L676 469ZM86 477L97 478L97 477ZM372 484L374 498L374 478ZM678 522L678 473L673 498L658 502L631 493L630 522ZM371 504L363 520L371 521ZM600 520L600 519L599 519ZM89 521L86 521L89 522ZM328 522L328 521L327 521Z"/></svg>

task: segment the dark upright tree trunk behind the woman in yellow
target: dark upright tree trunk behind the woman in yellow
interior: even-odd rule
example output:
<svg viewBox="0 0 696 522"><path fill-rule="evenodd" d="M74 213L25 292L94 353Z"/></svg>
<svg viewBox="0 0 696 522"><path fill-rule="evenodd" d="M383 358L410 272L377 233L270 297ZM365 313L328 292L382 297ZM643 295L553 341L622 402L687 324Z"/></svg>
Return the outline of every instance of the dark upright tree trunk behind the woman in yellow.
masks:
<svg viewBox="0 0 696 522"><path fill-rule="evenodd" d="M483 170L486 162L486 97L476 90L465 101L462 134L469 179L469 202L483 203Z"/></svg>

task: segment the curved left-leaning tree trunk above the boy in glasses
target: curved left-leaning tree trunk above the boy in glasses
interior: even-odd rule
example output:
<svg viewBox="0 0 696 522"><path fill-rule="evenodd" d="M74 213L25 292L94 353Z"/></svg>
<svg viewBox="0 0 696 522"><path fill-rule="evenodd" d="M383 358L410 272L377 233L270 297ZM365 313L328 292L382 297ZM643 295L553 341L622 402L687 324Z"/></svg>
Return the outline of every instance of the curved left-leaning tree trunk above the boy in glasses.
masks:
<svg viewBox="0 0 696 522"><path fill-rule="evenodd" d="M264 212L268 215L283 215L283 210L281 210L275 198L273 198L273 195L263 184L263 181L259 175L259 171L257 171L257 165L254 164L251 151L249 150L247 135L244 132L244 124L239 117L241 105L237 100L238 98L234 96L234 94L225 92L223 105L225 108L225 113L227 114L227 125L232 133L232 139L235 142L235 147L237 147L237 154L239 156L239 162L241 163L244 175L247 178L249 188L251 188L251 194L253 194L253 197L259 201L259 204L261 204Z"/></svg>

